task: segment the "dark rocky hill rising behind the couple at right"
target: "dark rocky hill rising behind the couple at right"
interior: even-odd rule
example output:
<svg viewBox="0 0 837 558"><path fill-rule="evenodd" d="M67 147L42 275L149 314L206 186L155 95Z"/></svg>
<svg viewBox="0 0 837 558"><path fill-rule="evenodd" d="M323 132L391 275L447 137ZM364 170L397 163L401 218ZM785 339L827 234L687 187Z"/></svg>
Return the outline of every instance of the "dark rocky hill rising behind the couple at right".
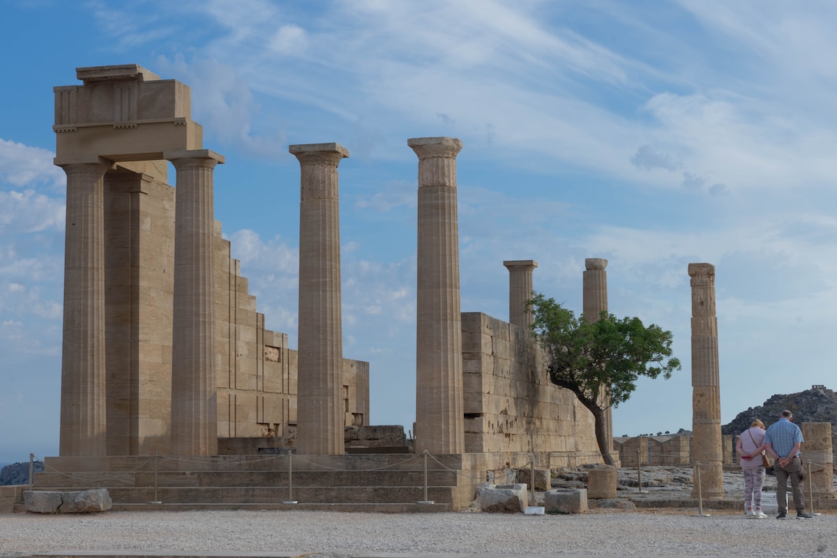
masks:
<svg viewBox="0 0 837 558"><path fill-rule="evenodd" d="M721 427L721 433L737 435L760 418L770 426L778 420L780 412L793 412L793 422L830 422L832 432L837 433L837 393L824 386L813 386L804 392L774 395L760 407L750 407L739 412L732 422Z"/></svg>

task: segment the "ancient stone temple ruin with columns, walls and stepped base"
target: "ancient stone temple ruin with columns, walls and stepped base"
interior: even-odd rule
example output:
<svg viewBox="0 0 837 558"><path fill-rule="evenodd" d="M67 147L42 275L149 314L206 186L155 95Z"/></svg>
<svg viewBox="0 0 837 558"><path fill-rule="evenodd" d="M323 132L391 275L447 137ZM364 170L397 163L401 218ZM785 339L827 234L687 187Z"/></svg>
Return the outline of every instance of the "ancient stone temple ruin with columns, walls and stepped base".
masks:
<svg viewBox="0 0 837 558"><path fill-rule="evenodd" d="M148 501L153 461L155 487L159 468L167 475L154 501L279 504L290 500L292 465L300 504L433 496L457 509L480 479L532 461L601 460L592 414L549 383L527 329L537 263L502 262L508 322L460 311L460 140L408 140L419 159L416 438L411 447L402 427L380 443L368 434L385 429L368 424L369 364L342 355L338 165L347 148L289 148L301 192L294 350L286 334L264 328L221 236L213 171L224 159L203 146L189 88L135 64L77 76L82 84L54 89L55 164L67 173L64 354L60 456L47 459L55 473L39 486L59 486L66 471L121 471L133 480L110 487L115 503ZM595 304L606 308L597 280ZM349 439L362 429L365 438ZM423 463L413 451L433 458L430 496L426 486L419 494ZM255 459L264 455L275 462ZM234 469L248 480L225 480ZM212 477L195 481L186 470ZM345 471L357 474L349 487ZM194 482L205 490L187 488Z"/></svg>

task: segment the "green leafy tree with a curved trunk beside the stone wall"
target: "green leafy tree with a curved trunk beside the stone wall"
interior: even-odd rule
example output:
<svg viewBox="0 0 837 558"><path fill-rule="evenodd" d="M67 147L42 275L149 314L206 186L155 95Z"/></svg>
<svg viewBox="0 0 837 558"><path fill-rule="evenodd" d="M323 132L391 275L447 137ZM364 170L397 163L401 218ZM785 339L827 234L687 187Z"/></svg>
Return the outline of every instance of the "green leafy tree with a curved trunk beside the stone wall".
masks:
<svg viewBox="0 0 837 558"><path fill-rule="evenodd" d="M531 329L547 353L550 381L575 393L593 413L599 451L604 463L613 465L604 411L627 401L639 376L668 379L680 370L671 356L671 332L608 312L588 322L540 293L527 305L534 315Z"/></svg>

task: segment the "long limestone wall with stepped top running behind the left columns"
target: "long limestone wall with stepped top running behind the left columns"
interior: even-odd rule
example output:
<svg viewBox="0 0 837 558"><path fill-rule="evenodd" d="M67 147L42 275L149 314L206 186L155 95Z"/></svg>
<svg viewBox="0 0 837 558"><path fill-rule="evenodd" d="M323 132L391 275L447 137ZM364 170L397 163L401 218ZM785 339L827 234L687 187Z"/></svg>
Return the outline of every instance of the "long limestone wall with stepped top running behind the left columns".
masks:
<svg viewBox="0 0 837 558"><path fill-rule="evenodd" d="M160 174L119 166L105 175L107 455L171 451L176 188ZM283 438L266 445L293 446L296 351L287 334L264 329L218 222L213 238L218 438ZM345 425L367 425L368 362L342 361L341 395Z"/></svg>

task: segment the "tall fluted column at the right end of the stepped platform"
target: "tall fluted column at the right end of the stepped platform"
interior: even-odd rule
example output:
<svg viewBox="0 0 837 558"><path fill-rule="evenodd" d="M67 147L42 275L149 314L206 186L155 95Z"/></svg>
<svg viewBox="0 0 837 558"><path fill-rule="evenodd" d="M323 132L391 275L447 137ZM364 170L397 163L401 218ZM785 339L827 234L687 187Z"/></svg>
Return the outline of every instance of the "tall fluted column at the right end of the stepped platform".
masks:
<svg viewBox="0 0 837 558"><path fill-rule="evenodd" d="M462 317L452 137L407 141L419 156L419 252L416 291L416 451L462 453Z"/></svg>

